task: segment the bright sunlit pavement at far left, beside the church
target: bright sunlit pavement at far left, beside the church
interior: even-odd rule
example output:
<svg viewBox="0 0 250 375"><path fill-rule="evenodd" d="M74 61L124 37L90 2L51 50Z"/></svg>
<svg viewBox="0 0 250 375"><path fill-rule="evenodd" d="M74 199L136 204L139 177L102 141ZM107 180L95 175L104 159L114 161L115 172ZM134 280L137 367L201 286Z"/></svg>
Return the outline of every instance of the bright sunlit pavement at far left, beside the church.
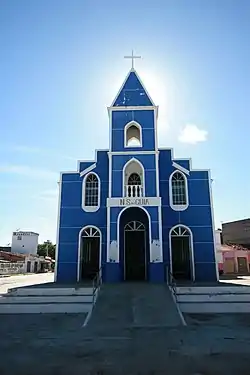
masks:
<svg viewBox="0 0 250 375"><path fill-rule="evenodd" d="M33 284L43 284L54 281L54 273L39 273L0 278L0 295L7 293L9 288L18 288Z"/></svg>

